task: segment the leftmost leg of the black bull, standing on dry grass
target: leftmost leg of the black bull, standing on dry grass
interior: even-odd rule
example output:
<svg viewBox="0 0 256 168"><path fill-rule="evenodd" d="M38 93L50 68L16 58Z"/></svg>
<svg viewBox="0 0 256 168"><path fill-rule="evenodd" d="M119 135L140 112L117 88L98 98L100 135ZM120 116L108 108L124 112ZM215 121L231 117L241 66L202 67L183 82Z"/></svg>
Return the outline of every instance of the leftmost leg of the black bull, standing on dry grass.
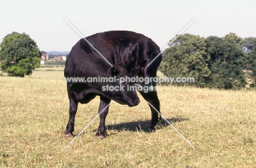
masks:
<svg viewBox="0 0 256 168"><path fill-rule="evenodd" d="M72 93L68 91L69 98L69 120L67 123L66 131L63 137L71 137L74 131L74 119L75 113L77 113L78 101L72 96Z"/></svg>

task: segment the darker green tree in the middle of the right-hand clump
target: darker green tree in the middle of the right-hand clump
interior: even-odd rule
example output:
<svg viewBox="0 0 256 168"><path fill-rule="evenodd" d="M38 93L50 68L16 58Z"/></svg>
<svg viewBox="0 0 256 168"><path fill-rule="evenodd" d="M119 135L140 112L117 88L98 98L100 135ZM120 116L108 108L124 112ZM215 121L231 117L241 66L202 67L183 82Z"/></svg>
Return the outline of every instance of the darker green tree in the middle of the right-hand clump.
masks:
<svg viewBox="0 0 256 168"><path fill-rule="evenodd" d="M212 75L208 87L222 89L240 89L246 81L242 68L246 64L243 53L242 39L234 33L224 38L210 36L206 39L207 52L210 56L209 68Z"/></svg>

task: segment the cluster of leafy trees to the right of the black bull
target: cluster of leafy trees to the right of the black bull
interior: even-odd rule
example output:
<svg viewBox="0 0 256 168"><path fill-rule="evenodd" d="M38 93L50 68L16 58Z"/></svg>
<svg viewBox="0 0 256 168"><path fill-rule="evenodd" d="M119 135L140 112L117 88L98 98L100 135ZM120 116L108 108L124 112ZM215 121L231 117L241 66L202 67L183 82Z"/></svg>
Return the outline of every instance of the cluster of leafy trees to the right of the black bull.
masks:
<svg viewBox="0 0 256 168"><path fill-rule="evenodd" d="M171 40L170 40L171 41ZM235 33L219 38L179 35L162 53L159 70L166 76L194 77L194 85L219 89L255 87L256 38Z"/></svg>

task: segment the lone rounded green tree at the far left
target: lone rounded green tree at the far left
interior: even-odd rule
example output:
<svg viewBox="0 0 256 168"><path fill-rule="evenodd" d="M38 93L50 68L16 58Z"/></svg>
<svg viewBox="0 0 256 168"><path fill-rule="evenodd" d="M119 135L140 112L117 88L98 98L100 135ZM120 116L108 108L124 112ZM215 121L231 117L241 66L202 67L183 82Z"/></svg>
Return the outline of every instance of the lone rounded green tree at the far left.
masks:
<svg viewBox="0 0 256 168"><path fill-rule="evenodd" d="M13 32L4 37L0 44L0 67L9 76L32 74L40 66L40 51L36 42L25 33Z"/></svg>

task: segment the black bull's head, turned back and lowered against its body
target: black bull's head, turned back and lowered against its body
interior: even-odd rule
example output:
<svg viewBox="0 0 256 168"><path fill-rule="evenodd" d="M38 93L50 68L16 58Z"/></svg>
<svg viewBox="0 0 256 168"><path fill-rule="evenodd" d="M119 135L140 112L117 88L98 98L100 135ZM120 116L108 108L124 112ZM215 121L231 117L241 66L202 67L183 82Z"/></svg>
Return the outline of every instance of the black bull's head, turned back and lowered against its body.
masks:
<svg viewBox="0 0 256 168"><path fill-rule="evenodd" d="M127 70L120 64L114 64L108 69L108 76L117 79L114 82L108 82L108 91L104 91L112 100L120 104L128 106L136 106L139 104L139 98L135 90L129 89L130 83L120 81L120 77L129 76ZM110 89L111 87L111 89ZM131 91L130 91L131 90Z"/></svg>

